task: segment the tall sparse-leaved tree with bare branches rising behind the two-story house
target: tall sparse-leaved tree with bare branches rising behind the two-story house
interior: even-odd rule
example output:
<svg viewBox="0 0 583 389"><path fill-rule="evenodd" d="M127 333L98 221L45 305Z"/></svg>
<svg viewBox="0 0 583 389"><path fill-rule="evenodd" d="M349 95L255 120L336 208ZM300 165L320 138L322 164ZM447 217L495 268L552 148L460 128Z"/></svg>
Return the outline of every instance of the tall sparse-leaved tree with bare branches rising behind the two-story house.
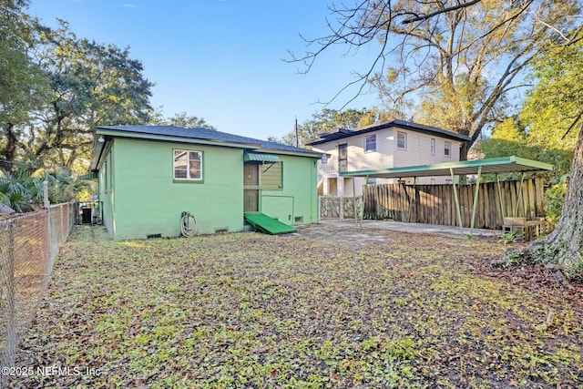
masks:
<svg viewBox="0 0 583 389"><path fill-rule="evenodd" d="M375 59L351 84L372 83L388 109L471 137L504 118L512 92L540 53L577 24L577 0L362 0L332 5L330 34L307 39L306 65L332 46L376 45ZM349 84L350 85L350 84Z"/></svg>

